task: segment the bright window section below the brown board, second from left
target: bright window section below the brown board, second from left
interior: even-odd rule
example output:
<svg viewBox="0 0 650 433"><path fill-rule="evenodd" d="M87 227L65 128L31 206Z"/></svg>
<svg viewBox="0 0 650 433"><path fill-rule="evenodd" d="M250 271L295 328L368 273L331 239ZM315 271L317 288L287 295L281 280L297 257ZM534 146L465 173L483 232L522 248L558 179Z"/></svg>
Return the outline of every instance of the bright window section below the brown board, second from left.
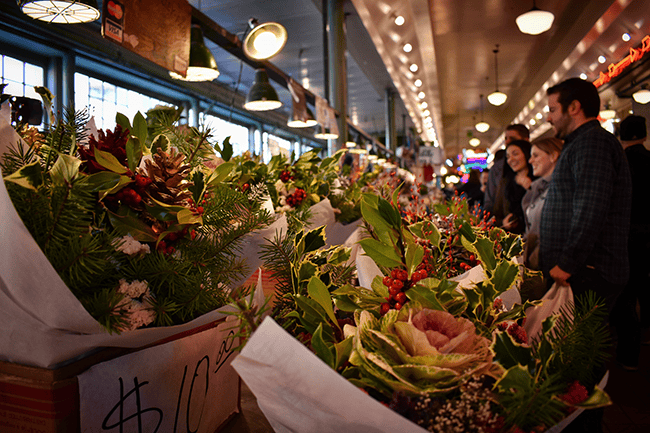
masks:
<svg viewBox="0 0 650 433"><path fill-rule="evenodd" d="M117 113L133 120L138 111L144 115L156 105L171 105L78 72L74 74L74 98L75 109L87 107L98 129L112 129Z"/></svg>

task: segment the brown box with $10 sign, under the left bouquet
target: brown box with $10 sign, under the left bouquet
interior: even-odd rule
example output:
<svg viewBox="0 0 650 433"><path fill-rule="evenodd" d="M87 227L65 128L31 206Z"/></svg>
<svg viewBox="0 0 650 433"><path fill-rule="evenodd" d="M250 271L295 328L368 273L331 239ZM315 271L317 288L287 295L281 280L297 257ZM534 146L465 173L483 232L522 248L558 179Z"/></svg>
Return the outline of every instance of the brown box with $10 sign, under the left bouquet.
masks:
<svg viewBox="0 0 650 433"><path fill-rule="evenodd" d="M0 431L219 431L240 412L235 326L216 320L52 369L0 361Z"/></svg>

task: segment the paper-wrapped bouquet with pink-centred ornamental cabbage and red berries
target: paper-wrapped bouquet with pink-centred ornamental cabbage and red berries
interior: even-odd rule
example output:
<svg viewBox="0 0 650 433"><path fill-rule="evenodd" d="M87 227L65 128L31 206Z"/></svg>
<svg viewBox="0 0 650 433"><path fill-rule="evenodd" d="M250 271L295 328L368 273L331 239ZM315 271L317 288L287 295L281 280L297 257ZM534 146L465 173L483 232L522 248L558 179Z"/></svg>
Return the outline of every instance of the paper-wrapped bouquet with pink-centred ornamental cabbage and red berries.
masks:
<svg viewBox="0 0 650 433"><path fill-rule="evenodd" d="M529 337L534 303L511 296L519 237L455 214L460 199L429 218L397 203L363 196L356 261L324 248L322 228L267 247L284 330L265 319L233 366L276 431L545 431L609 403L595 386L599 300L565 306Z"/></svg>

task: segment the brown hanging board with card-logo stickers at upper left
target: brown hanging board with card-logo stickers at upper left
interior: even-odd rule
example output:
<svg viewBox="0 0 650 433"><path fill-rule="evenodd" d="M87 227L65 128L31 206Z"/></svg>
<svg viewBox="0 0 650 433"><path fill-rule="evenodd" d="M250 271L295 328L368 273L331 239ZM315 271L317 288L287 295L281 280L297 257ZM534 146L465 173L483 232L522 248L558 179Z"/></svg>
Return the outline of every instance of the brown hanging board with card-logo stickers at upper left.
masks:
<svg viewBox="0 0 650 433"><path fill-rule="evenodd" d="M103 2L104 38L182 76L190 61L191 26L187 0Z"/></svg>

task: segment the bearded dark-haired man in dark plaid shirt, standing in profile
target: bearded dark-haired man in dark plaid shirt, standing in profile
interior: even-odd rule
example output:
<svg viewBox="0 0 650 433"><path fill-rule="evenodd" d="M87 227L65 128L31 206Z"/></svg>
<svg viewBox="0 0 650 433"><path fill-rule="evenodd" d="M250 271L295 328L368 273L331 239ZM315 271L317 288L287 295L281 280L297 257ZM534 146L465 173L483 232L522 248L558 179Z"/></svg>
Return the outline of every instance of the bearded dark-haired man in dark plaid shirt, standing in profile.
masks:
<svg viewBox="0 0 650 433"><path fill-rule="evenodd" d="M540 265L575 295L588 290L608 310L627 282L632 183L623 149L596 119L596 87L571 78L547 90L548 122L565 140L540 227Z"/></svg>

